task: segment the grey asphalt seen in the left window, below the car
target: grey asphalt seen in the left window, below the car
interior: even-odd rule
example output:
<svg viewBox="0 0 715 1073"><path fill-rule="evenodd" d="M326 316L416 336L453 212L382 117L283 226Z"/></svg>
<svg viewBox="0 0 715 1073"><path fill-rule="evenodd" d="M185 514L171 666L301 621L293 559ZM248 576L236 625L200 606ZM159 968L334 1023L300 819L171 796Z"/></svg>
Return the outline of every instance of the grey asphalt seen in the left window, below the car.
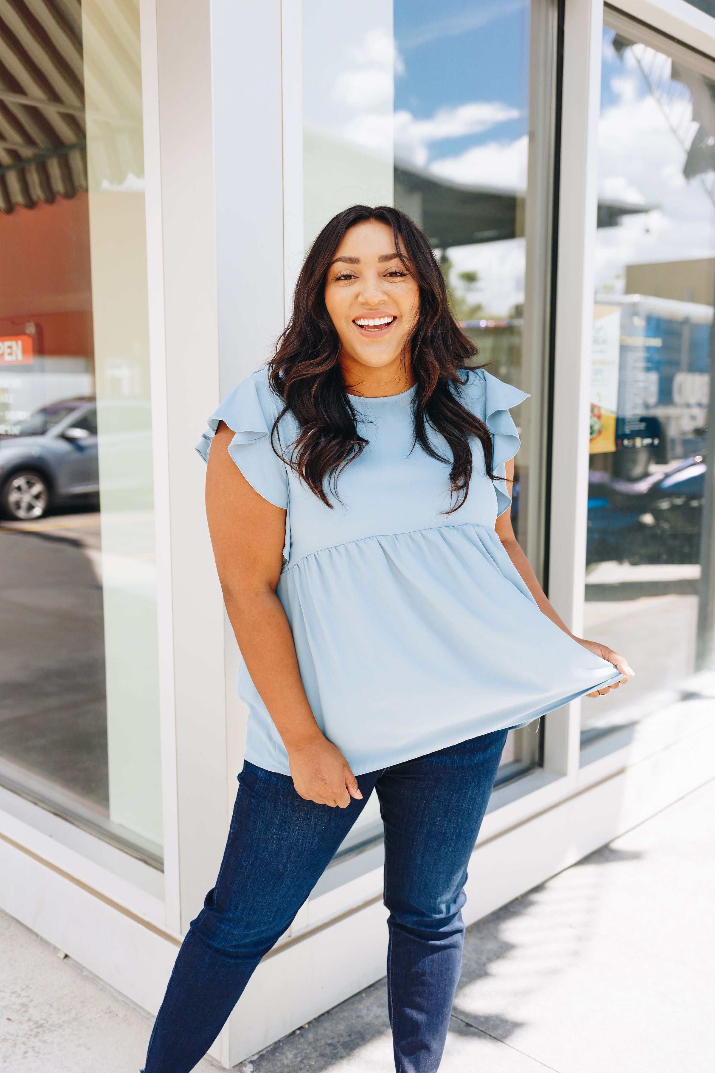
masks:
<svg viewBox="0 0 715 1073"><path fill-rule="evenodd" d="M108 806L99 514L0 525L0 753Z"/></svg>

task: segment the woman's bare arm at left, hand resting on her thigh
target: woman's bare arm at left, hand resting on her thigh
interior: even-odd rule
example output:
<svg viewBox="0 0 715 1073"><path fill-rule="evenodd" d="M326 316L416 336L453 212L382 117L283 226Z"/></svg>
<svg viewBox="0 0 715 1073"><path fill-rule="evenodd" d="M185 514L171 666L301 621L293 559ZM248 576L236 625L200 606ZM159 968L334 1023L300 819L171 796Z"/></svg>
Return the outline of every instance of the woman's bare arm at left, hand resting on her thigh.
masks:
<svg viewBox="0 0 715 1073"><path fill-rule="evenodd" d="M298 670L293 634L275 594L285 511L255 491L238 469L222 422L206 476L206 513L230 624L254 686L283 739L297 793L345 808L361 797L347 761L322 733Z"/></svg>

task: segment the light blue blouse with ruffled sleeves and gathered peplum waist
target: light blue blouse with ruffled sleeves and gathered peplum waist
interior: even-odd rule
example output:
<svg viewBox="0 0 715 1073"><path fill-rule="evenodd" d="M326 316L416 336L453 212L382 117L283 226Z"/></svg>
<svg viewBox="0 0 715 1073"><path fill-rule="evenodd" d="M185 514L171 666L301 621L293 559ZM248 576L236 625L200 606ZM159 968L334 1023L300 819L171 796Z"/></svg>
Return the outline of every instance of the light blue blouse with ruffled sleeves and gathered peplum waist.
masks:
<svg viewBox="0 0 715 1073"><path fill-rule="evenodd" d="M466 372L461 391L492 433L503 476L519 449L509 407L527 396L482 369ZM225 422L242 474L287 511L278 597L315 719L356 775L525 725L621 677L538 609L494 532L509 495L503 480L486 475L476 439L470 494L445 513L449 465L415 444L413 397L414 388L351 396L370 443L340 475L332 509L271 446L282 405L265 368L228 393L196 449L207 460ZM287 456L297 435L292 414L279 431ZM449 458L446 442L433 437ZM288 775L244 664L238 692L250 709L245 759Z"/></svg>

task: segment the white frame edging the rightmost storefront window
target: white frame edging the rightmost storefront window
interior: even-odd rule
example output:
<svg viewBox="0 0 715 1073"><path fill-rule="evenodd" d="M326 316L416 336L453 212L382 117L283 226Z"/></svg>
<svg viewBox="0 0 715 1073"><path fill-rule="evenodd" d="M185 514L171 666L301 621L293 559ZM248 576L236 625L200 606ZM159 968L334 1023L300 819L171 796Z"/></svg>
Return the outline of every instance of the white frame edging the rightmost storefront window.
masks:
<svg viewBox="0 0 715 1073"><path fill-rule="evenodd" d="M694 46L715 59L715 18L685 0L619 0L608 4L615 12L638 19L643 34L665 34ZM556 370L554 399L554 454L552 495L552 573L550 597L556 609L577 634L583 629L586 548L586 499L589 495L589 382L596 238L596 176L598 118L600 107L600 58L604 3L570 3L567 0L566 39L580 35L580 49L565 45L562 126L562 176L560 206L558 285L556 305ZM570 15L570 31L569 31ZM587 36L591 44L586 43ZM681 49L688 55L688 49ZM677 44L673 46L677 50ZM579 52L589 67L578 65ZM691 54L690 54L691 55ZM694 57L697 62L697 57ZM575 65L576 64L576 65ZM583 123L583 93L590 73L587 119ZM574 355L580 361L574 361ZM574 407L578 399L578 407ZM581 702L569 705L566 753L567 774L578 790L595 785L639 763L658 749L667 749L684 734L698 733L710 720L706 711L694 712L686 721L664 709L635 729L615 732L580 748ZM566 719L566 716L564 716Z"/></svg>

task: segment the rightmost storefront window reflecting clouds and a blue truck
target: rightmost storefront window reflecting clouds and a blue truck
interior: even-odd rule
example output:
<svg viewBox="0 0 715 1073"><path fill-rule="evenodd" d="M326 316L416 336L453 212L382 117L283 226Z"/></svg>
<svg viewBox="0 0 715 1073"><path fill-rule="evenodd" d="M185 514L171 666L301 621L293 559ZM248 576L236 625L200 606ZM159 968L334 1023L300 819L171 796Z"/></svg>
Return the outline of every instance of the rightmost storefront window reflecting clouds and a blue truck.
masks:
<svg viewBox="0 0 715 1073"><path fill-rule="evenodd" d="M602 62L584 630L636 678L583 744L703 688L715 565L715 64L615 15Z"/></svg>

